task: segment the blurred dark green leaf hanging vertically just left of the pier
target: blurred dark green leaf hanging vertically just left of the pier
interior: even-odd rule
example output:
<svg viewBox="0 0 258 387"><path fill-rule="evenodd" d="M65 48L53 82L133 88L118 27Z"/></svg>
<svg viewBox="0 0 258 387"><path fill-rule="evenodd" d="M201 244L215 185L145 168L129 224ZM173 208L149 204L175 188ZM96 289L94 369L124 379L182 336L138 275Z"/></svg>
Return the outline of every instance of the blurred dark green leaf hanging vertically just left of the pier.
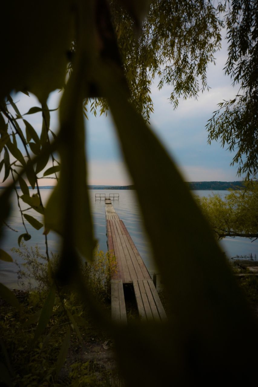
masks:
<svg viewBox="0 0 258 387"><path fill-rule="evenodd" d="M86 184L84 118L80 102L84 89L80 70L73 71L60 103L60 178L46 205L45 226L62 235L70 248L75 247L84 257L92 259L95 241ZM67 263L64 268L67 276L75 267L75 262Z"/></svg>

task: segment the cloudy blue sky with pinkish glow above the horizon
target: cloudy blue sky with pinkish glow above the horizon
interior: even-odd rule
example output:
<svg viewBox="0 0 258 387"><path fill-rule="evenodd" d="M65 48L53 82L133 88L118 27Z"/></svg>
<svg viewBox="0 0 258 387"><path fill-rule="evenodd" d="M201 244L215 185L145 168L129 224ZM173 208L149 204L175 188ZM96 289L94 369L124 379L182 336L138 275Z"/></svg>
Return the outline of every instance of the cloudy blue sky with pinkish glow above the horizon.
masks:
<svg viewBox="0 0 258 387"><path fill-rule="evenodd" d="M219 143L207 144L205 125L211 118L217 104L223 99L230 99L237 89L231 86L223 67L227 60L225 42L222 50L217 53L216 66L211 64L208 69L209 91L201 93L198 100L180 100L179 106L173 110L169 103L170 87L165 86L158 91L156 79L151 94L154 113L151 115L151 129L157 134L172 158L177 162L186 181L234 181L237 177L237 166L230 167L233 154L222 148ZM58 107L62 94L52 92L48 99L50 109ZM30 97L18 93L13 96L22 114L32 106L40 106L35 96ZM27 115L26 118L40 133L41 113ZM86 120L86 152L88 158L88 182L90 185L129 185L131 178L127 173L119 142L112 124L112 117L89 115ZM22 124L21 124L22 126ZM58 113L51 113L50 127L58 130ZM12 161L12 159L11 159ZM49 167L51 164L49 163ZM3 176L3 171L0 178ZM5 183L7 183L6 181ZM53 185L54 180L40 179L40 185Z"/></svg>

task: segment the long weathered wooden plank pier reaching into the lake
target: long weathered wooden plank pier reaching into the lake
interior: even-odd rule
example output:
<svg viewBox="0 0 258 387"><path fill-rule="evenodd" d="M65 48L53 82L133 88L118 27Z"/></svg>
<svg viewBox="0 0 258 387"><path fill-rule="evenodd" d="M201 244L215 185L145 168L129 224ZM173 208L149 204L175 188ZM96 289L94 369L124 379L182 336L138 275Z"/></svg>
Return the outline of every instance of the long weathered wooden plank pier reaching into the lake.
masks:
<svg viewBox="0 0 258 387"><path fill-rule="evenodd" d="M167 316L157 290L134 242L114 210L109 198L105 199L108 250L114 252L117 270L111 280L112 319L125 324L125 284L132 284L139 317L143 321L166 321Z"/></svg>

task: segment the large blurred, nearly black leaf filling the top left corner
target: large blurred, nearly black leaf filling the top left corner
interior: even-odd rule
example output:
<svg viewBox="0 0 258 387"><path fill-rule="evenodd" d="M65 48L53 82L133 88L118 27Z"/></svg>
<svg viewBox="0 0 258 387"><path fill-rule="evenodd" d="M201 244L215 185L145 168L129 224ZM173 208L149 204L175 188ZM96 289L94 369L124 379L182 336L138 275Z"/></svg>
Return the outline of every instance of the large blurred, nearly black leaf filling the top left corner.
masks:
<svg viewBox="0 0 258 387"><path fill-rule="evenodd" d="M51 9L51 12L49 10ZM67 55L71 47L74 11L70 2L46 0L44 7L31 3L7 5L1 33L7 31L12 19L12 31L5 37L3 51L7 57L1 63L1 99L12 90L28 90L46 101L48 94L65 83ZM19 28L22 20L27 28ZM15 50L12 42L15 40ZM26 45L24 45L26 42ZM40 42L40 45L38 45ZM20 63L17 66L17 63Z"/></svg>

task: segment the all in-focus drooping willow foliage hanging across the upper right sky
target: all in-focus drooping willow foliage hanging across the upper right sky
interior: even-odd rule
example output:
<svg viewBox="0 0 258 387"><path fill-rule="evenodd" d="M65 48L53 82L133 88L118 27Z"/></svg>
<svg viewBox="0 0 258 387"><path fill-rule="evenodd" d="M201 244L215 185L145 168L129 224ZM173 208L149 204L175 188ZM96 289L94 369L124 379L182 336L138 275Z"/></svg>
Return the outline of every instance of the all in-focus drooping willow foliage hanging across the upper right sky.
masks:
<svg viewBox="0 0 258 387"><path fill-rule="evenodd" d="M225 74L239 84L234 99L223 101L208 121L208 142L220 140L235 152L230 165L238 164L238 175L249 180L258 171L258 9L255 0L178 1L154 0L135 34L129 12L110 0L112 22L126 74L131 99L148 121L153 112L150 86L159 78L158 88L171 86L174 108L179 97L198 96L208 89L206 68L215 63L214 54L221 46L221 30L227 31L228 59ZM85 108L88 99L85 102ZM107 102L95 99L90 109L96 115L107 111Z"/></svg>

